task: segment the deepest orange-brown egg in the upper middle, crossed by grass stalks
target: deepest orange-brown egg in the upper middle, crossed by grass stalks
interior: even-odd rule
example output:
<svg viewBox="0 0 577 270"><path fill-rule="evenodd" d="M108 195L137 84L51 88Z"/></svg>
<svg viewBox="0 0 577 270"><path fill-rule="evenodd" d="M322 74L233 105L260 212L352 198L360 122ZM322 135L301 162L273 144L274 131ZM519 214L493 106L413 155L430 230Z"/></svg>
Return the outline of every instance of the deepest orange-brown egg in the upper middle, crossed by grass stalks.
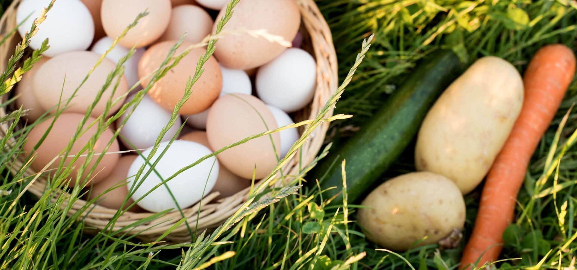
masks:
<svg viewBox="0 0 577 270"><path fill-rule="evenodd" d="M150 47L140 59L138 63L138 76L143 79L143 87L147 87L150 82L150 77L145 79L149 74L153 73L164 58L168 55L168 51L173 47L175 41L163 41ZM188 41L182 43L178 48L177 54L185 51L187 47L193 45ZM160 106L167 111L172 112L175 105L182 100L184 96L186 83L188 78L194 77L196 64L198 59L204 55L206 50L204 48L194 48L185 58L182 58L180 63L174 69L155 83L149 90L148 94ZM205 109L211 107L211 104L218 98L220 90L222 89L222 73L220 66L215 58L211 57L204 64L204 73L192 86L192 94L188 101L180 109L181 115L194 115L195 113L203 112Z"/></svg>

